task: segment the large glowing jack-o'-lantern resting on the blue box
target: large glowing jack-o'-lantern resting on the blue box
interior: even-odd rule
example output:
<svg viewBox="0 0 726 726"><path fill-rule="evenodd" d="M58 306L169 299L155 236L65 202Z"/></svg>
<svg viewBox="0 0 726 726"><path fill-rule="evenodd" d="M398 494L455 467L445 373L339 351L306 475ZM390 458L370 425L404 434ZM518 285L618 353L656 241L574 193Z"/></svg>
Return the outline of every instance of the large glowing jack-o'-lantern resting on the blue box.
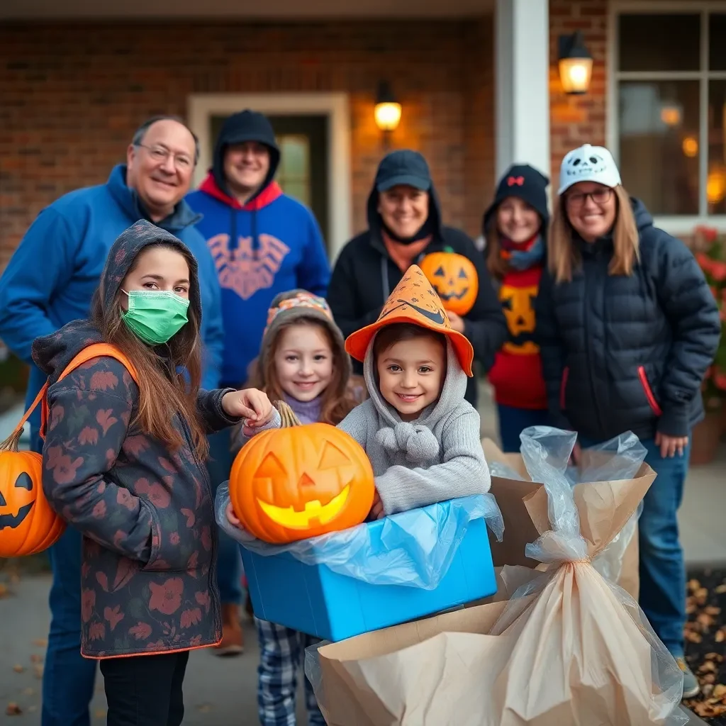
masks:
<svg viewBox="0 0 726 726"><path fill-rule="evenodd" d="M229 475L240 523L273 544L360 524L374 491L362 446L327 423L258 433L237 454Z"/></svg>

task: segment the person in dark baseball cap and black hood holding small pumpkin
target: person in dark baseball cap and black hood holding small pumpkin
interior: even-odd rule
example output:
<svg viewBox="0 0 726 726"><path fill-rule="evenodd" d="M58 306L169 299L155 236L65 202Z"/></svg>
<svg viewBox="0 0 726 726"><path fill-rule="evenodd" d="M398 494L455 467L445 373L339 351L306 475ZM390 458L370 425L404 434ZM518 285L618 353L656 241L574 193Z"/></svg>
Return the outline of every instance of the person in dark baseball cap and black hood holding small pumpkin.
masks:
<svg viewBox="0 0 726 726"><path fill-rule="evenodd" d="M346 244L335 263L327 301L343 335L375 322L409 266L444 250L469 258L476 267L476 301L463 317L449 311L449 319L489 370L507 338L505 317L481 252L465 232L444 226L428 163L417 151L393 151L381 160L368 197L368 229ZM354 367L362 372L360 364ZM466 399L473 405L476 386L470 378Z"/></svg>

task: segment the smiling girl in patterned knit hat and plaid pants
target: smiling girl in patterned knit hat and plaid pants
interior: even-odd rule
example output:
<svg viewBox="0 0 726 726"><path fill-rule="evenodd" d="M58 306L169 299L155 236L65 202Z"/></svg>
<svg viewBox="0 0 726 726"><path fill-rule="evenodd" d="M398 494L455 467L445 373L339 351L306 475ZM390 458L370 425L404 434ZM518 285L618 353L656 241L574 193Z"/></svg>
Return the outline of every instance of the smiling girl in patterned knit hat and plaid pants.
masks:
<svg viewBox="0 0 726 726"><path fill-rule="evenodd" d="M250 380L270 400L286 401L301 423L337 425L357 403L348 386L351 362L343 334L327 302L305 290L282 293L272 301L260 355L250 373ZM248 433L237 427L232 435L234 449L242 448ZM233 522L237 524L236 518ZM234 537L230 529L225 531ZM262 726L294 724L298 666L303 664L305 648L318 639L258 618L255 624L260 644L260 722ZM307 679L305 696L309 725L325 726Z"/></svg>

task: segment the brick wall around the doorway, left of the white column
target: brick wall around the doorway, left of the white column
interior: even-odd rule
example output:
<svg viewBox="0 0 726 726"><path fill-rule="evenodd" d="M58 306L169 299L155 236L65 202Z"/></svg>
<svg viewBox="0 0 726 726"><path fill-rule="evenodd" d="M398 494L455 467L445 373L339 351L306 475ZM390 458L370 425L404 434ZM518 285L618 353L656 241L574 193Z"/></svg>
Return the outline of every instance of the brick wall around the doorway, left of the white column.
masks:
<svg viewBox="0 0 726 726"><path fill-rule="evenodd" d="M393 147L431 163L447 222L478 232L492 188L492 20L0 28L0 266L38 211L107 179L148 115L191 93L347 91L354 229L380 160L379 78L403 104ZM465 183L466 181L466 183Z"/></svg>

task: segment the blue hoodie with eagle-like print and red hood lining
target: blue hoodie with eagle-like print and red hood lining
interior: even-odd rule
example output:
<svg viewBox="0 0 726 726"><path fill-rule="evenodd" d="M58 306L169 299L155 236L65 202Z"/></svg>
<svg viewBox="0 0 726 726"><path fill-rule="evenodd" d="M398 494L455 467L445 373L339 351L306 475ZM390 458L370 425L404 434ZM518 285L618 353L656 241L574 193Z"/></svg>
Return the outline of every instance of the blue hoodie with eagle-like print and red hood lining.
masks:
<svg viewBox="0 0 726 726"><path fill-rule="evenodd" d="M274 181L242 206L210 174L187 201L203 214L197 228L219 274L225 335L221 383L237 387L259 353L275 295L303 288L325 296L330 281L325 246L311 211Z"/></svg>

